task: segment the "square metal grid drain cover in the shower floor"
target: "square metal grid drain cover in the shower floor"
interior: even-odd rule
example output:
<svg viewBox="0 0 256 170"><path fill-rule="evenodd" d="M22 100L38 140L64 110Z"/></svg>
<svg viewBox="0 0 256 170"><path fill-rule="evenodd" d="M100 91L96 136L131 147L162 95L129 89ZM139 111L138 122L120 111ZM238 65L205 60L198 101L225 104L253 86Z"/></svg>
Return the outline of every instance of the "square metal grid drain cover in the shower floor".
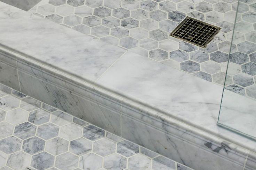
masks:
<svg viewBox="0 0 256 170"><path fill-rule="evenodd" d="M191 17L186 17L173 32L171 32L170 36L205 48L219 30L221 30L220 27Z"/></svg>

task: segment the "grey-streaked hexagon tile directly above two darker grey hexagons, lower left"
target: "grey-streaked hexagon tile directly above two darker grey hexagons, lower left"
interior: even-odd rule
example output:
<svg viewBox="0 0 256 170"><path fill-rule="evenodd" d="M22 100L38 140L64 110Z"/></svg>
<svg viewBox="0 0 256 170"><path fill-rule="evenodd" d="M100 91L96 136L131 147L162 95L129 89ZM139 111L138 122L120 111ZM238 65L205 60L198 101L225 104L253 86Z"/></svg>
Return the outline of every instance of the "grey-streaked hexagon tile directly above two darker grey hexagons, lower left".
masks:
<svg viewBox="0 0 256 170"><path fill-rule="evenodd" d="M46 123L49 121L49 119L50 119L50 113L43 109L37 109L37 110L31 111L29 114L29 122L36 125L41 125L43 123Z"/></svg>

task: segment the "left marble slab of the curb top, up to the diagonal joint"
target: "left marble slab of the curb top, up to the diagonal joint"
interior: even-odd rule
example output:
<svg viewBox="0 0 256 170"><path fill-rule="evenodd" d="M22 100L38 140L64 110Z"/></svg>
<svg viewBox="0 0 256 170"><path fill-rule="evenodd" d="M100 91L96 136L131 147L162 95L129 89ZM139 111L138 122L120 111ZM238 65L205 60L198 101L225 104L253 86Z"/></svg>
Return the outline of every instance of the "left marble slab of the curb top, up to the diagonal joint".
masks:
<svg viewBox="0 0 256 170"><path fill-rule="evenodd" d="M61 25L41 22L40 17L10 8L5 3L1 2L0 8L1 45L32 56L56 69L86 77L87 81L94 82L126 52ZM14 18L15 21L12 21ZM21 41L24 43L19 43Z"/></svg>

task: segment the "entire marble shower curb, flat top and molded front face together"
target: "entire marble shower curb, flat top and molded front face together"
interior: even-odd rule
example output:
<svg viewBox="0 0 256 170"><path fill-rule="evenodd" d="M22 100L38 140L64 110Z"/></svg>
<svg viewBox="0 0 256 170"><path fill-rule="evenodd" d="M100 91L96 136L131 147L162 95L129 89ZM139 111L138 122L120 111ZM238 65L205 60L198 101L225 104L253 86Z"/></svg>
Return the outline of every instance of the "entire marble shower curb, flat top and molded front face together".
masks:
<svg viewBox="0 0 256 170"><path fill-rule="evenodd" d="M193 169L256 168L222 87L2 2L0 23L1 83Z"/></svg>

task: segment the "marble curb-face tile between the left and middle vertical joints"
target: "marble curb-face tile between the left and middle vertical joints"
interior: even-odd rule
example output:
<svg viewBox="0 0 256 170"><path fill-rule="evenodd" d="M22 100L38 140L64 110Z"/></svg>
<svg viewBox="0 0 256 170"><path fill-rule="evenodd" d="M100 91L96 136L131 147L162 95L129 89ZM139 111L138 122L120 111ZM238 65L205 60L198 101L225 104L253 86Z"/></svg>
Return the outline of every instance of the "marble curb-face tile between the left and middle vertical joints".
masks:
<svg viewBox="0 0 256 170"><path fill-rule="evenodd" d="M50 80L54 80L53 75L48 75L40 71L37 74L37 71L34 69L33 73L36 73L36 75L27 74L23 71L18 72L21 78L21 91L23 93L40 99L63 111L72 113L76 117L86 119L88 122L105 128L114 134L120 135L121 104L119 102L106 97L102 98L101 95L96 95L85 88L72 86L68 81L63 79L60 81L55 79L54 83L56 85L66 84L64 86L66 88L56 86L54 83L50 83ZM43 79L39 77L39 74L42 75ZM33 84L30 84L28 81L33 81ZM101 101L102 103L99 103Z"/></svg>

